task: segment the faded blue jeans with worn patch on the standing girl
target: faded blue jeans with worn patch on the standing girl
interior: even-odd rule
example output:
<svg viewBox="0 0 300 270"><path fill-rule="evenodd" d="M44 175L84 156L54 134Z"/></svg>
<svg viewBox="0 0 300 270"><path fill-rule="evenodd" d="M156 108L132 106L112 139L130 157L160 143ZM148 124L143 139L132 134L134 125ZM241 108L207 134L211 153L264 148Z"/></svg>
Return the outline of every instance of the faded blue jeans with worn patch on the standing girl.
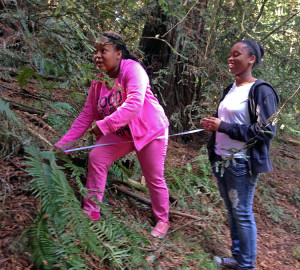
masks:
<svg viewBox="0 0 300 270"><path fill-rule="evenodd" d="M252 205L258 174L251 175L247 161L236 158L236 164L230 161L222 175L220 166L218 172L215 166L221 160L217 156L212 169L227 209L232 256L241 269L255 269L257 230Z"/></svg>

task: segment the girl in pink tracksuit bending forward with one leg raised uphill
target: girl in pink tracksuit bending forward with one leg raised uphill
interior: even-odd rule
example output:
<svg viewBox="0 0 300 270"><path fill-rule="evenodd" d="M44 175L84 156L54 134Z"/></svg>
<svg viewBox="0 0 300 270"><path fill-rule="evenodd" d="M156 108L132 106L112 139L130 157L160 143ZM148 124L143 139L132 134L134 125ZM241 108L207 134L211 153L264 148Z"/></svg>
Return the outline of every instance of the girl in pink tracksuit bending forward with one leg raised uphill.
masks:
<svg viewBox="0 0 300 270"><path fill-rule="evenodd" d="M92 82L84 109L56 146L65 149L82 137L94 121L91 132L97 144L114 143L95 147L89 155L88 198L83 208L92 220L100 217L100 207L93 198L102 202L110 165L135 150L158 220L151 234L163 238L169 228L169 193L164 179L168 119L150 90L146 71L118 34L103 33L95 48L95 65L111 80Z"/></svg>

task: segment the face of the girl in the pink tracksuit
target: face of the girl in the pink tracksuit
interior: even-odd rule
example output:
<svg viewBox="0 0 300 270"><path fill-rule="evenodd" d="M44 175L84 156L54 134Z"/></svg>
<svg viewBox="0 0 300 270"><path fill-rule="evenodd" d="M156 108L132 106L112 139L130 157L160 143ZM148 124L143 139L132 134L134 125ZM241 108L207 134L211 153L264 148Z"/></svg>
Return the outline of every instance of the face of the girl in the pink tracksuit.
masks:
<svg viewBox="0 0 300 270"><path fill-rule="evenodd" d="M112 44L107 38L97 39L94 45L94 63L97 68L104 71L110 77L116 77L119 72L122 51L116 50L116 45Z"/></svg>

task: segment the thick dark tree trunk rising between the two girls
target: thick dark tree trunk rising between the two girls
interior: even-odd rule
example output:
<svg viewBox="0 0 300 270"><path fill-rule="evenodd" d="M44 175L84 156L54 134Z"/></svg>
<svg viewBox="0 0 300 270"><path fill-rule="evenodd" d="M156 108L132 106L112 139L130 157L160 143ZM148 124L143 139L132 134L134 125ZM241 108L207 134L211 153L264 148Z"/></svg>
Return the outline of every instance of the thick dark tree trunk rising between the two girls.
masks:
<svg viewBox="0 0 300 270"><path fill-rule="evenodd" d="M171 121L171 132L186 130L195 124L187 108L201 97L201 76L198 72L201 55L200 50L192 49L191 43L193 48L203 46L202 10L206 4L207 0L199 0L186 12L186 18L178 21L167 16L157 3L143 30L140 48L150 69L152 90Z"/></svg>

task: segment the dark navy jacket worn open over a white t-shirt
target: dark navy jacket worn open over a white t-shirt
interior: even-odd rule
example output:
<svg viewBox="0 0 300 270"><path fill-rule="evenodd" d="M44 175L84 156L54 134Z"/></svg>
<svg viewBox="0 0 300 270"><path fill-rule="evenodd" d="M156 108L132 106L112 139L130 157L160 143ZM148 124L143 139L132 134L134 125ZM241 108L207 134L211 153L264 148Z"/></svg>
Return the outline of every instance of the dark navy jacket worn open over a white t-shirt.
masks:
<svg viewBox="0 0 300 270"><path fill-rule="evenodd" d="M231 89L228 86L223 93L221 101ZM247 156L249 169L252 173L270 172L273 170L269 151L271 139L276 133L276 124L268 122L268 119L277 111L279 98L274 88L258 79L250 88L248 96L248 109L251 124L230 124L221 122L218 132L227 134L231 139L247 143ZM218 113L216 115L218 117ZM215 155L216 132L207 144L209 160L212 161Z"/></svg>

